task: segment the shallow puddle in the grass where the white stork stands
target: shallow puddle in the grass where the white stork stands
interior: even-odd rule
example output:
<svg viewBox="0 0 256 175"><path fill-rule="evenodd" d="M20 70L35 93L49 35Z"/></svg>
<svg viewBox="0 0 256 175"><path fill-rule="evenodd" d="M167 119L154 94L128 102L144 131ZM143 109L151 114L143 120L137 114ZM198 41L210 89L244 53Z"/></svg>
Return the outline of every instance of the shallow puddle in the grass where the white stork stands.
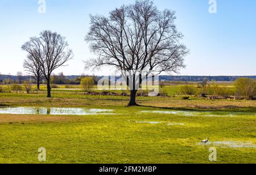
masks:
<svg viewBox="0 0 256 175"><path fill-rule="evenodd" d="M207 144L197 143L197 145L210 145L214 147L222 147L222 148L255 148L256 145L248 142L242 141L209 141Z"/></svg>

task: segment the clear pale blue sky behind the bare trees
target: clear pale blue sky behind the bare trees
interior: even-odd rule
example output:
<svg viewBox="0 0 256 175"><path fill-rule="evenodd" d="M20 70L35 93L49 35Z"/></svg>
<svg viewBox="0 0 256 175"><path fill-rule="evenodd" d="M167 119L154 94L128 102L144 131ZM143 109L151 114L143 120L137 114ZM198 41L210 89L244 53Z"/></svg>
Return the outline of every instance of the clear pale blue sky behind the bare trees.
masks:
<svg viewBox="0 0 256 175"><path fill-rule="evenodd" d="M131 0L46 0L46 14L38 13L38 0L0 0L0 72L23 71L26 53L21 45L43 30L67 37L75 59L57 72L88 73L84 36L89 14L108 14ZM183 43L191 50L181 75L256 75L256 1L217 0L217 14L208 11L209 0L155 0L160 10L176 11ZM109 74L107 69L95 74Z"/></svg>

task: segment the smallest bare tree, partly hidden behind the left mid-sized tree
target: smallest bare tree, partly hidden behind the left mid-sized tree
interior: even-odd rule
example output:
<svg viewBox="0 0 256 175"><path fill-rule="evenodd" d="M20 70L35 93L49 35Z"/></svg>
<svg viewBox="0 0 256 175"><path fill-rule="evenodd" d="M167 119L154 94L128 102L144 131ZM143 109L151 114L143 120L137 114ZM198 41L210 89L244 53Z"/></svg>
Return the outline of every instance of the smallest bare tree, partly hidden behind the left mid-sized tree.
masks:
<svg viewBox="0 0 256 175"><path fill-rule="evenodd" d="M34 54L36 56L36 53ZM40 90L40 81L43 80L43 72L40 63L37 61L32 55L28 55L27 59L24 60L23 68L32 76L34 77L37 89Z"/></svg>

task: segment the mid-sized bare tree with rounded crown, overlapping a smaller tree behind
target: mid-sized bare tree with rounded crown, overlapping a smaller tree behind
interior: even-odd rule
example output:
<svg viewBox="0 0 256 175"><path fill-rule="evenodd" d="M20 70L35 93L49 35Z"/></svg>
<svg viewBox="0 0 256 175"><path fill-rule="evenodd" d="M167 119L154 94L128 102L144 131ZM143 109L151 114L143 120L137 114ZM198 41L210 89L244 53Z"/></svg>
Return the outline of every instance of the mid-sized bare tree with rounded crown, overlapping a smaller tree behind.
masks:
<svg viewBox="0 0 256 175"><path fill-rule="evenodd" d="M65 66L67 61L73 58L73 52L68 48L65 37L56 32L43 31L39 37L30 38L30 41L22 45L22 49L28 52L41 66L44 78L47 81L47 97L51 97L51 74L60 66Z"/></svg>

